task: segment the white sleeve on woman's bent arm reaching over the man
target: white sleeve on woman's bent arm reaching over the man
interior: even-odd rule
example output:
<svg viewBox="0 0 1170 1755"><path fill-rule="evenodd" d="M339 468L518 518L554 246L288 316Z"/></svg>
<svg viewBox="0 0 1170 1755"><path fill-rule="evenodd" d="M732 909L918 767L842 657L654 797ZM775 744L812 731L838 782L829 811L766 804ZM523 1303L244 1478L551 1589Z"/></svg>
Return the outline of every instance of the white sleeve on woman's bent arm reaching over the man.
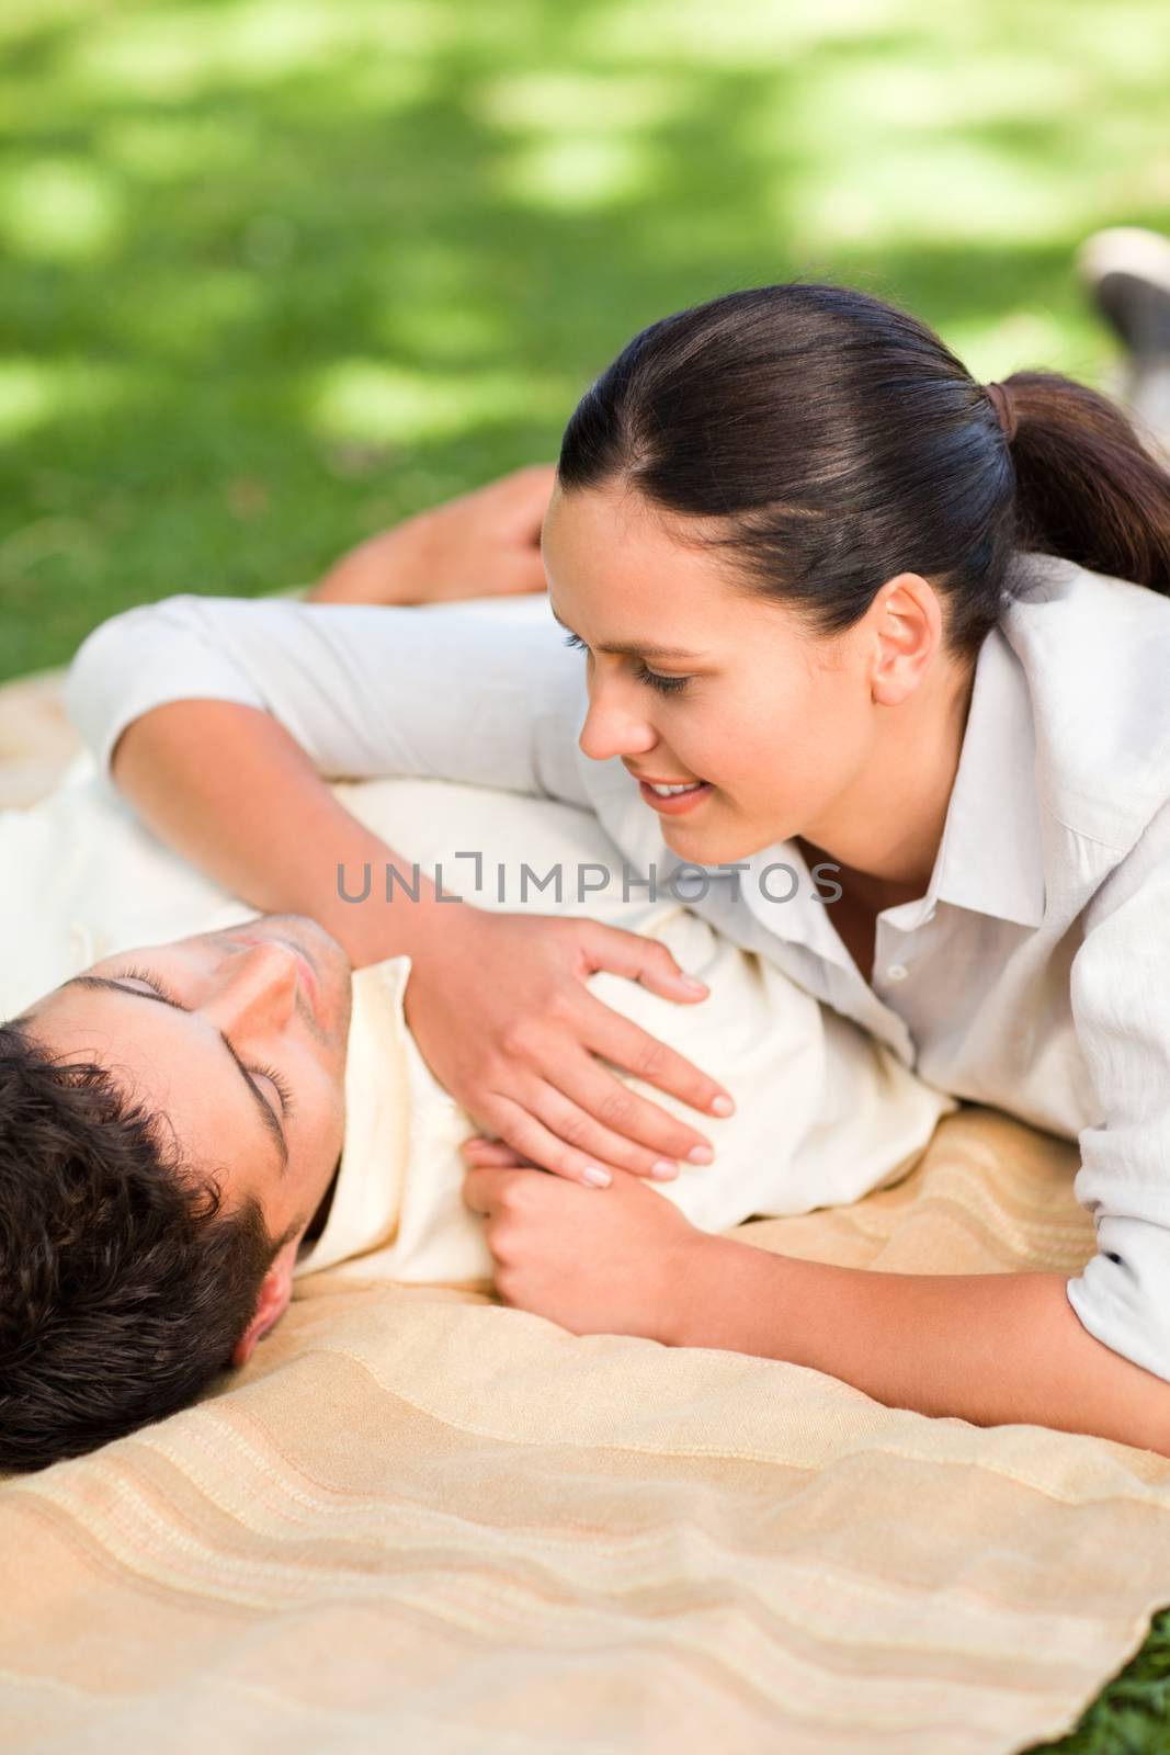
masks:
<svg viewBox="0 0 1170 1755"><path fill-rule="evenodd" d="M584 669L551 618L179 595L95 628L65 684L107 781L123 730L172 700L270 713L330 779L433 777L589 804Z"/></svg>

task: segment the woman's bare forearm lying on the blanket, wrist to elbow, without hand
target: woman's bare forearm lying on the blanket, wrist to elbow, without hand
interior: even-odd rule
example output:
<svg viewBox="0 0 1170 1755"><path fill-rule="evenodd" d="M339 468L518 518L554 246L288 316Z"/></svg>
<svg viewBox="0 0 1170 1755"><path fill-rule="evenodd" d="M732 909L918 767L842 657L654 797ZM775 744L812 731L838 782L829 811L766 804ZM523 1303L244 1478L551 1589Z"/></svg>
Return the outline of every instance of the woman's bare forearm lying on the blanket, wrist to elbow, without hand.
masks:
<svg viewBox="0 0 1170 1755"><path fill-rule="evenodd" d="M1170 1383L1081 1325L1065 1274L884 1274L698 1234L668 1341L809 1365L888 1408L1170 1455Z"/></svg>

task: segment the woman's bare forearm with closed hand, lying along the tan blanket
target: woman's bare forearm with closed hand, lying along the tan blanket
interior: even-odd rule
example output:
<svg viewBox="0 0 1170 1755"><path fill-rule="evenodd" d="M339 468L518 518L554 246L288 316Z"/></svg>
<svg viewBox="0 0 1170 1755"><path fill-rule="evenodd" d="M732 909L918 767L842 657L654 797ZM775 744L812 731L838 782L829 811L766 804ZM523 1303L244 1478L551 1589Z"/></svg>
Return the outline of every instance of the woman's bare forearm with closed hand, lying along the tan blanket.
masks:
<svg viewBox="0 0 1170 1755"><path fill-rule="evenodd" d="M1065 1276L888 1274L698 1230L621 1176L600 1200L505 1146L467 1141L505 1304L574 1334L635 1334L782 1358L888 1408L1045 1425L1170 1455L1170 1383L1096 1341Z"/></svg>

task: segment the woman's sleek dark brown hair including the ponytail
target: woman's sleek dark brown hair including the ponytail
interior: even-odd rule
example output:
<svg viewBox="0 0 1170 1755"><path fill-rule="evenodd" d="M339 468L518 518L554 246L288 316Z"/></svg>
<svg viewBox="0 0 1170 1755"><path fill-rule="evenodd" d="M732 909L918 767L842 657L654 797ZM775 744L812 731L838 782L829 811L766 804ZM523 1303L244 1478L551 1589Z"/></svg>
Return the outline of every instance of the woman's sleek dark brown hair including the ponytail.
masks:
<svg viewBox="0 0 1170 1755"><path fill-rule="evenodd" d="M703 519L695 541L823 634L898 572L945 593L970 656L1038 549L1170 593L1170 474L1107 397L1056 372L1003 381L1016 432L916 318L838 286L728 293L642 330L561 442L568 493L628 481Z"/></svg>

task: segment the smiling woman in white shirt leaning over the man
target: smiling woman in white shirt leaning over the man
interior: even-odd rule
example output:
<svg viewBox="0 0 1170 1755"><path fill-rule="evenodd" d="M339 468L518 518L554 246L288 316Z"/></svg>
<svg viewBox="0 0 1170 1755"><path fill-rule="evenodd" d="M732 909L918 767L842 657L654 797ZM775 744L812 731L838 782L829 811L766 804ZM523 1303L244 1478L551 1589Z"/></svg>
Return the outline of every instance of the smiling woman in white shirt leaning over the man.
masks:
<svg viewBox="0 0 1170 1755"><path fill-rule="evenodd" d="M714 1102L696 1069L609 1028L579 972L682 997L675 972L598 937L612 928L460 909L447 930L453 911L426 906L398 920L410 1023L498 1135L468 1146L467 1199L502 1295L579 1332L775 1353L924 1413L1170 1451L1170 477L1068 379L981 386L879 300L770 286L653 325L588 391L544 556L551 607L588 649L579 749L537 644L444 674L410 732L479 744L500 714L467 723L468 683L474 707L505 704L505 784L589 804L642 867L656 849L716 867L695 906L723 930L928 1081L1079 1139L1100 1250L1068 1283L863 1274L689 1237L628 1178L586 1206L528 1165L581 1181L591 1157L646 1174L651 1151L679 1150L654 1106L614 1102L596 1053L646 1057L635 1071ZM332 860L363 851L316 779L349 749L363 770L360 728L307 760L277 723L303 718L307 684L265 697L233 670L254 669L288 605L237 605L235 644L205 600L175 605L203 618L181 653L158 620L82 649L77 720L181 851L254 906L332 927L344 909L319 870L305 906L289 835L330 837ZM314 611L298 614L312 644ZM351 623L354 648L374 637ZM93 709L123 690L128 706ZM470 1004L467 956L484 974ZM667 1323L675 1278L686 1307Z"/></svg>

